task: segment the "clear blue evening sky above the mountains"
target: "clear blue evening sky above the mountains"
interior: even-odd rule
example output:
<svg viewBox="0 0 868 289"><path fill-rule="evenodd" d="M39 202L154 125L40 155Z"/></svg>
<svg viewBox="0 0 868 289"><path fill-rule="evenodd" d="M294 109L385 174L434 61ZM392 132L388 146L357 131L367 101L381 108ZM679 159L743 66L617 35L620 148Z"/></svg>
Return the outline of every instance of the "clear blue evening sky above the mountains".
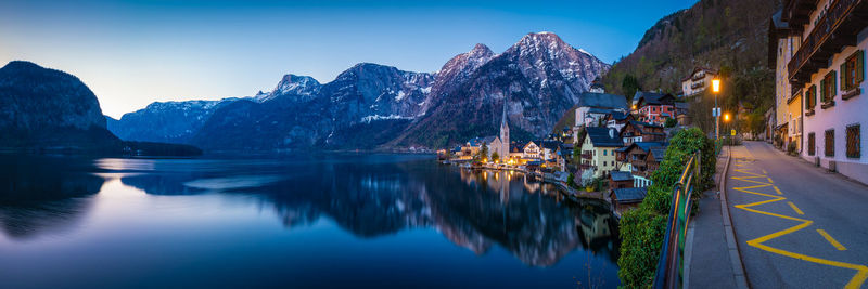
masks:
<svg viewBox="0 0 868 289"><path fill-rule="evenodd" d="M80 78L103 113L271 90L288 73L329 82L360 62L436 71L484 43L552 31L607 63L672 1L0 1L0 62Z"/></svg>

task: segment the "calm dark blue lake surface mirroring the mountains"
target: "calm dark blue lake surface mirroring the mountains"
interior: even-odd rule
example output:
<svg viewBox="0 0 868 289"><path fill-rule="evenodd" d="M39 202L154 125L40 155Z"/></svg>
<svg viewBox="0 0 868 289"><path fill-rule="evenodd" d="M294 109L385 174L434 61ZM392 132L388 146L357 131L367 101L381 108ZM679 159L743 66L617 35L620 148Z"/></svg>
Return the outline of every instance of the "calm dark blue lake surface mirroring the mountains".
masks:
<svg viewBox="0 0 868 289"><path fill-rule="evenodd" d="M616 287L607 206L418 155L0 157L9 287Z"/></svg>

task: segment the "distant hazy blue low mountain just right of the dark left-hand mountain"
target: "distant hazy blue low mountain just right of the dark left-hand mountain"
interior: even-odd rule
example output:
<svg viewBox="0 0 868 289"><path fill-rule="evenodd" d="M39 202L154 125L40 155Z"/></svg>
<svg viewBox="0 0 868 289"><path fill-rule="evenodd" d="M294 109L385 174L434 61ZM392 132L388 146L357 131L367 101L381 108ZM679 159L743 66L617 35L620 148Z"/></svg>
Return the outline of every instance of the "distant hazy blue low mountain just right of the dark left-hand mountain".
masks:
<svg viewBox="0 0 868 289"><path fill-rule="evenodd" d="M126 141L188 143L217 108L235 101L155 102L118 120L108 119L107 128Z"/></svg>

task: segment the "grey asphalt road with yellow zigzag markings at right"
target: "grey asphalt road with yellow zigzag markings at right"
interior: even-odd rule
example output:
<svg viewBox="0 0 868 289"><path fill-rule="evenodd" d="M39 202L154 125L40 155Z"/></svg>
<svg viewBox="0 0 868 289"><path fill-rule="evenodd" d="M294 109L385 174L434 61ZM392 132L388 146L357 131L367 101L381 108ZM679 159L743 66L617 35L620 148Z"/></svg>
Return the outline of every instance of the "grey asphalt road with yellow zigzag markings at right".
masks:
<svg viewBox="0 0 868 289"><path fill-rule="evenodd" d="M762 142L732 154L729 210L753 288L868 288L868 186Z"/></svg>

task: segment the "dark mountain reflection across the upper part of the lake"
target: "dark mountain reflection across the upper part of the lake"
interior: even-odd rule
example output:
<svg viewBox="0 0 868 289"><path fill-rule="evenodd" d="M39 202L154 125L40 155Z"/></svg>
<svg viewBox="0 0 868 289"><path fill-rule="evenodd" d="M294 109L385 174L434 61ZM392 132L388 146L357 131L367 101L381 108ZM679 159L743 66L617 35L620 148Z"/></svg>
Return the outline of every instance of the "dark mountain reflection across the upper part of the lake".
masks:
<svg viewBox="0 0 868 289"><path fill-rule="evenodd" d="M314 228L323 220L360 240L434 229L482 258L502 248L540 270L585 251L590 253L587 259L602 257L595 262L611 270L595 277L586 276L588 268L569 268L575 276L564 284L599 278L605 287L617 285L617 225L608 206L564 200L557 187L518 172L461 170L411 155L254 160L2 157L0 161L0 223L4 235L17 242L39 239L41 233L75 235L79 223L88 223L82 215L101 201L100 196L120 194L106 188L107 182L119 180L122 188L162 196L145 203L168 203L170 212L181 218L195 211L170 207L171 196L224 196L222 201L243 200L273 211L290 231Z"/></svg>

